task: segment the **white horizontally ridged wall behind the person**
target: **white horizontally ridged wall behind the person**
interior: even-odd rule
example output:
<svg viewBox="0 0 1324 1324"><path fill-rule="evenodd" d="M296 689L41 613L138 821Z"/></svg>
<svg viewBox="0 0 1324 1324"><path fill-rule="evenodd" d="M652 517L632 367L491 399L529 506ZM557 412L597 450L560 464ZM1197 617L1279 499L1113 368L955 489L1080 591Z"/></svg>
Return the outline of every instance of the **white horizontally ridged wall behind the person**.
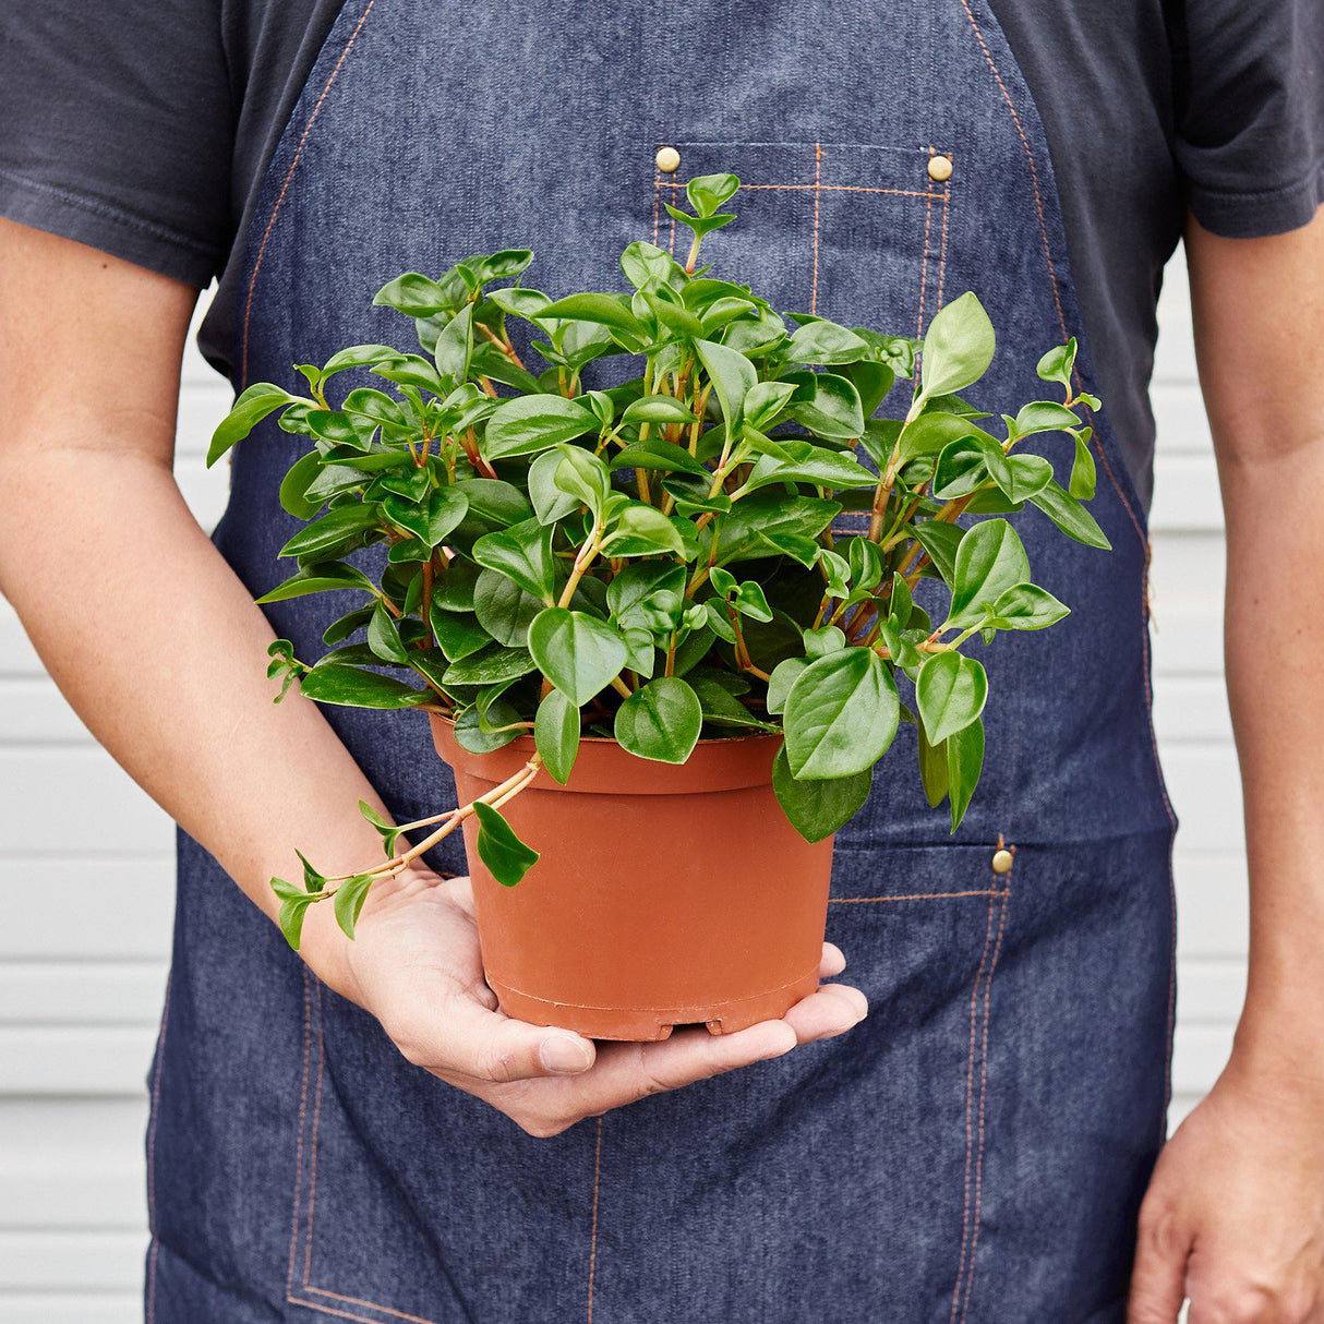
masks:
<svg viewBox="0 0 1324 1324"><path fill-rule="evenodd" d="M1222 516L1180 261L1160 322L1155 667L1182 820L1180 1116L1230 1045L1246 871L1222 687ZM228 406L226 383L191 350L176 473L208 527L226 478L203 453ZM171 825L93 743L3 601L0 804L0 1320L130 1324L142 1317L144 1076L166 981Z"/></svg>

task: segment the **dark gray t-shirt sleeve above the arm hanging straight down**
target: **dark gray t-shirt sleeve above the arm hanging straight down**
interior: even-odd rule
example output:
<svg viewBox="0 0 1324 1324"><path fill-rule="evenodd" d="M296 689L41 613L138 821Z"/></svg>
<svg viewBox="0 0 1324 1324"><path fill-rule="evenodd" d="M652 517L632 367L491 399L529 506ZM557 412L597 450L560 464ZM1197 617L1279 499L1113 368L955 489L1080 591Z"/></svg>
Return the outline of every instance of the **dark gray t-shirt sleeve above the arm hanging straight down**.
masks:
<svg viewBox="0 0 1324 1324"><path fill-rule="evenodd" d="M1206 229L1305 225L1324 201L1324 0L1186 0L1176 156Z"/></svg>

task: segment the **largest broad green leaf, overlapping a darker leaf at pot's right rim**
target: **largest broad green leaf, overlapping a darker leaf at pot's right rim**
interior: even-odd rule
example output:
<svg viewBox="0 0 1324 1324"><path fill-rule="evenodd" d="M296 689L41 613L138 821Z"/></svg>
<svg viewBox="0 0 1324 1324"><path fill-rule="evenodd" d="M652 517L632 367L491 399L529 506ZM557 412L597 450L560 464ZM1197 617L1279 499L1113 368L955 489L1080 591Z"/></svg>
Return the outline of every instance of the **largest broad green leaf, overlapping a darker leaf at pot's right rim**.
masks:
<svg viewBox="0 0 1324 1324"><path fill-rule="evenodd" d="M786 696L782 724L790 771L806 781L866 772L887 752L899 720L896 682L873 649L818 658Z"/></svg>

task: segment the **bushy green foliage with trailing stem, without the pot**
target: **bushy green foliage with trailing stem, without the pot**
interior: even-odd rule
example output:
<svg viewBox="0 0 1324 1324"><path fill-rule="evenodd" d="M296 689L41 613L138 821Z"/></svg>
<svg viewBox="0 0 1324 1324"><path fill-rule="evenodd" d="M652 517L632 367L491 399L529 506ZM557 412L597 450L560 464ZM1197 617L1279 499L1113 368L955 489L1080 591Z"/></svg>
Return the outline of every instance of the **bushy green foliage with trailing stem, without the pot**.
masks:
<svg viewBox="0 0 1324 1324"><path fill-rule="evenodd" d="M630 244L630 293L553 301L512 283L528 252L397 277L373 302L413 320L424 354L360 344L299 364L305 393L258 383L216 430L209 463L277 410L310 442L281 486L306 522L282 549L299 568L260 601L363 597L315 663L273 645L282 696L298 681L323 703L438 714L470 751L530 732L536 749L490 794L433 818L395 826L361 806L387 861L339 878L305 861L302 887L273 879L291 944L307 907L332 896L352 936L371 884L471 814L493 875L519 882L538 855L500 808L540 769L564 784L585 733L665 763L706 735L780 733L777 797L817 841L863 805L898 724L914 722L927 797L960 824L988 694L964 646L1067 613L997 516L1029 502L1108 547L1082 504L1095 467L1078 409L1099 401L1072 387L1068 342L1039 363L1061 402L1002 414L1001 437L980 426L992 416L959 395L994 350L973 294L923 343L805 314L788 326L749 287L696 270L737 188L732 175L692 180L692 214L669 208L692 230L687 261ZM536 375L511 319L538 338ZM588 389L594 364L618 384ZM393 389L356 385L332 404L350 372ZM904 416L878 417L898 377L912 383ZM1075 438L1066 486L1025 446L1053 432ZM858 532L834 531L843 512ZM385 556L369 576L347 557L372 544ZM916 601L923 581L945 585L943 610ZM420 829L432 830L397 851Z"/></svg>

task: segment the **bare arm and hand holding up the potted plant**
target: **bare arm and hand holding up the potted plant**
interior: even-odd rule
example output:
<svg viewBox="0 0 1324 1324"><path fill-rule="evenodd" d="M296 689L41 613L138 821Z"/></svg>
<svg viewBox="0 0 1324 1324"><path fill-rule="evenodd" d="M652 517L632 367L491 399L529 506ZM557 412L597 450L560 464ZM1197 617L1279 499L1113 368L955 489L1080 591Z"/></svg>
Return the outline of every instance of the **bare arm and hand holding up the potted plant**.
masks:
<svg viewBox="0 0 1324 1324"><path fill-rule="evenodd" d="M380 858L383 805L316 706L275 706L273 633L199 528L171 459L196 291L0 221L0 592L93 733L269 916L293 842L350 873ZM222 939L218 937L218 941ZM536 1135L776 1057L865 1014L828 985L727 1037L601 1050L495 1010L467 879L379 884L357 939L314 907L303 956L410 1061ZM824 973L841 953L825 947Z"/></svg>

